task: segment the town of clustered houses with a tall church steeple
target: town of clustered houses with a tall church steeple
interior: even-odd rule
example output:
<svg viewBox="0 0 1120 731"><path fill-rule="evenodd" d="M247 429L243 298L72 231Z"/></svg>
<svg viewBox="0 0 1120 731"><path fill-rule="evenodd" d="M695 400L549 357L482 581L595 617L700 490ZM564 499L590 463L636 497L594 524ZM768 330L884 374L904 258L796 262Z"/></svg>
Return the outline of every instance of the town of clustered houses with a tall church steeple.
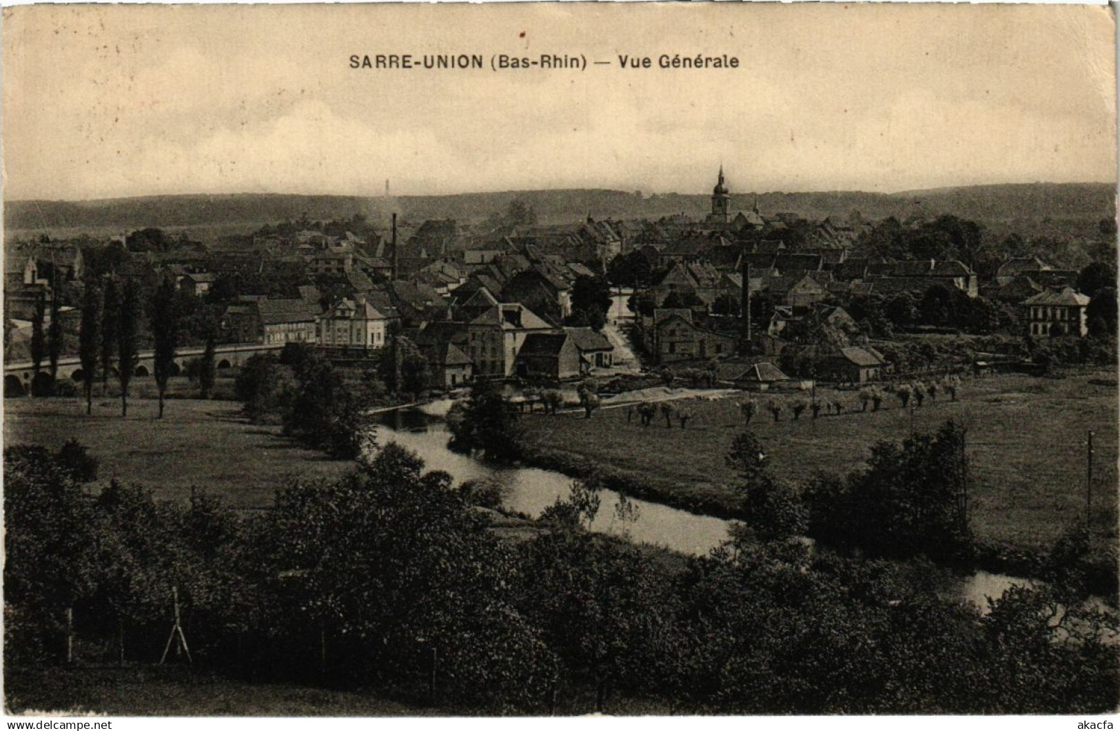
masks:
<svg viewBox="0 0 1120 731"><path fill-rule="evenodd" d="M354 369L408 340L424 359L419 391L698 369L755 390L853 385L1039 374L1114 355L1107 219L1058 259L952 215L808 221L764 214L757 198L736 210L720 168L702 218L540 225L515 200L485 222L383 224L357 213L209 244L158 228L17 242L6 269L6 394L82 382L83 292L109 280L148 299L172 282L180 349L297 344ZM185 366L180 357L171 375ZM149 354L136 376L151 374Z"/></svg>

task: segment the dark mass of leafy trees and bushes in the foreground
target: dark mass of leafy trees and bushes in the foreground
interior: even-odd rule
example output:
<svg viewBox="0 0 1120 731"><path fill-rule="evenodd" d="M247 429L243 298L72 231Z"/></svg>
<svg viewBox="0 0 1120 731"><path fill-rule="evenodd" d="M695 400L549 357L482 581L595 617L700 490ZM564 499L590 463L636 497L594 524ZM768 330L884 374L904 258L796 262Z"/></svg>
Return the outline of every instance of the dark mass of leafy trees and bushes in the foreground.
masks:
<svg viewBox="0 0 1120 731"><path fill-rule="evenodd" d="M791 540L808 525L869 555L940 550L956 525L941 508L955 439L881 448L802 504L745 434L732 458L752 517L694 559L590 533L594 480L504 541L449 476L394 444L337 481L279 490L254 518L202 493L157 503L114 482L91 497L50 454L9 450L7 660L58 662L72 609L90 647L155 662L177 589L196 664L391 687L449 711L582 713L619 697L684 713L1111 710L1114 620L1100 612L1017 589L981 615L939 596L920 559ZM830 512L857 523L822 524Z"/></svg>

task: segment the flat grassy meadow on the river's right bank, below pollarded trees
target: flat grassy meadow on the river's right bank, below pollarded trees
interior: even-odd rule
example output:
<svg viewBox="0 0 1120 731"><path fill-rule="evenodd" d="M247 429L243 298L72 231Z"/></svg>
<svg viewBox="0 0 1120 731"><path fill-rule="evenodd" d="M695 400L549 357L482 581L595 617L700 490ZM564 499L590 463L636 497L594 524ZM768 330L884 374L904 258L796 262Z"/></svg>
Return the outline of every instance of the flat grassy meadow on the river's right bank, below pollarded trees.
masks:
<svg viewBox="0 0 1120 731"><path fill-rule="evenodd" d="M1095 385L1096 381L1105 385ZM1107 385L1112 384L1112 385ZM775 474L804 485L819 470L859 468L878 441L900 441L911 430L911 410L894 396L878 413L862 413L855 392L818 391L818 399L844 403L841 415L809 412L792 421L790 404L804 396L756 396L785 403L782 420L760 410L752 421L766 446ZM1117 505L1117 387L1114 373L1067 378L1008 375L968 379L951 402L939 394L913 410L916 431L931 431L948 419L968 429L971 459L972 523L981 541L1015 549L1048 546L1084 515L1086 431L1094 435L1093 499L1100 518ZM735 472L724 456L743 430L738 400L674 402L693 414L683 431L659 415L643 428L627 409L605 409L590 420L564 414L526 416L529 440L554 456L609 465L647 486L646 495L678 505L722 504L734 508L728 487Z"/></svg>

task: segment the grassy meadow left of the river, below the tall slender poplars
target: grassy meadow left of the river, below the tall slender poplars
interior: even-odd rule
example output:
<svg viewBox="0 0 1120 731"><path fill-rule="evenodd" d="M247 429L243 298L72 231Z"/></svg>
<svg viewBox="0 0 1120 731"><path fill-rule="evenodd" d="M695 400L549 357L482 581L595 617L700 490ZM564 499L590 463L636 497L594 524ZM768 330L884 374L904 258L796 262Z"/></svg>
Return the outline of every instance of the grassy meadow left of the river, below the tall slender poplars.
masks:
<svg viewBox="0 0 1120 731"><path fill-rule="evenodd" d="M279 427L250 424L235 402L172 400L162 420L156 414L148 399L130 400L127 419L114 399L95 399L90 416L83 399L8 399L4 444L57 449L77 439L100 461L101 482L140 482L174 500L197 486L236 508L268 507L295 477L336 478L352 466L306 449Z"/></svg>

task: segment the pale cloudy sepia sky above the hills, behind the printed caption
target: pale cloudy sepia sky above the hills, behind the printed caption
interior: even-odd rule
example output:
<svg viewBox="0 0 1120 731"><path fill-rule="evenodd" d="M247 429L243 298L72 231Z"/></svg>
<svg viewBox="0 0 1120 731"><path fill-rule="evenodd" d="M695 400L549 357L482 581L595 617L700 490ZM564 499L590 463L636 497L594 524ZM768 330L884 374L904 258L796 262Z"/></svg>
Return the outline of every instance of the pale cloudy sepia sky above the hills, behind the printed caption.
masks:
<svg viewBox="0 0 1120 731"><path fill-rule="evenodd" d="M486 68L349 68L394 53ZM1113 19L1093 6L20 6L3 103L9 200L704 193L720 165L732 193L1117 175Z"/></svg>

